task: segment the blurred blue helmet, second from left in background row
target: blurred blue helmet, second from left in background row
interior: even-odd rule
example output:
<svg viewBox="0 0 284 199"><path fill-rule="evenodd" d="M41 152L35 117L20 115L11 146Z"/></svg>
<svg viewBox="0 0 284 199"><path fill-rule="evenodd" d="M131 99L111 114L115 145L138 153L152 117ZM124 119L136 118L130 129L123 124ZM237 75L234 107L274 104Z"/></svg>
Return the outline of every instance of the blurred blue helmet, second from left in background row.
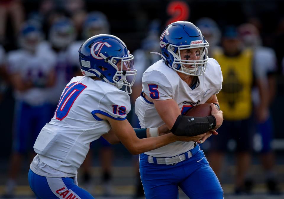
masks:
<svg viewBox="0 0 284 199"><path fill-rule="evenodd" d="M75 26L68 18L61 18L55 21L49 31L49 41L52 46L64 49L75 41Z"/></svg>

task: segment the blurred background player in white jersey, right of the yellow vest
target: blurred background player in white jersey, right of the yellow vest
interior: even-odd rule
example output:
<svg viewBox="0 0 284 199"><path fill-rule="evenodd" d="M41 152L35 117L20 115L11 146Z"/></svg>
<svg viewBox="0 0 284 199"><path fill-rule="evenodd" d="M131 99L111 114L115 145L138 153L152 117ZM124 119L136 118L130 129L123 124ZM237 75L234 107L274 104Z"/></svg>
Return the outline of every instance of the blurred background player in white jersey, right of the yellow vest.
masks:
<svg viewBox="0 0 284 199"><path fill-rule="evenodd" d="M277 60L273 49L262 46L262 41L258 29L249 23L239 27L239 33L243 44L251 48L254 52L254 74L256 83L252 97L256 112L256 136L254 139L254 149L260 152L260 159L265 171L267 189L270 193L279 193L276 181L275 155L271 148L273 138L273 123L270 114L270 105L275 97L275 73L277 72ZM259 90L259 88L265 89ZM267 96L263 96L267 94ZM263 96L261 100L260 96ZM246 184L253 184L252 179L247 179Z"/></svg>

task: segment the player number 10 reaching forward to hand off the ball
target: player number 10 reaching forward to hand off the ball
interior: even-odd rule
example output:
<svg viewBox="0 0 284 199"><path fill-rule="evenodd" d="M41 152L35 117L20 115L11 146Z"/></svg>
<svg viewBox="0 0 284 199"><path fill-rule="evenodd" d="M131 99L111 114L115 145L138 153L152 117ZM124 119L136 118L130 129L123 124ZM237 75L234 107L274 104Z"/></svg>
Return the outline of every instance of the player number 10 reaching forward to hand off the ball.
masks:
<svg viewBox="0 0 284 199"><path fill-rule="evenodd" d="M119 38L104 34L89 38L79 49L79 61L84 76L72 78L65 87L54 117L43 127L34 145L37 155L28 179L38 198L93 198L78 187L76 175L90 142L101 136L110 143L122 142L133 154L204 136L202 130L195 137L168 133L146 138L147 131L158 134L157 129L136 129L135 134L126 115L130 111L127 93L131 93L136 70L133 55ZM119 89L122 86L126 92ZM219 122L220 113L214 114Z"/></svg>

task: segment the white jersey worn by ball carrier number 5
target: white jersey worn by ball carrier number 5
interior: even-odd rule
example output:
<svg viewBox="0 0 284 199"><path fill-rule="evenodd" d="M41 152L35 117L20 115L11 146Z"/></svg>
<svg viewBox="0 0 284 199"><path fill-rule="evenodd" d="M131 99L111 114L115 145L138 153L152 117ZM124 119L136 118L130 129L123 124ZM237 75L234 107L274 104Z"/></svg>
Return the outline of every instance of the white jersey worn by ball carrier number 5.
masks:
<svg viewBox="0 0 284 199"><path fill-rule="evenodd" d="M205 103L212 95L222 89L222 72L218 62L209 58L204 75L198 76L199 83L191 89L178 73L165 65L163 60L151 65L143 74L143 92L155 100L174 99L181 113L192 106ZM142 128L157 127L164 124L152 102L141 94L135 102L137 114ZM172 157L185 153L194 147L194 142L174 142L164 147L146 152L154 157Z"/></svg>

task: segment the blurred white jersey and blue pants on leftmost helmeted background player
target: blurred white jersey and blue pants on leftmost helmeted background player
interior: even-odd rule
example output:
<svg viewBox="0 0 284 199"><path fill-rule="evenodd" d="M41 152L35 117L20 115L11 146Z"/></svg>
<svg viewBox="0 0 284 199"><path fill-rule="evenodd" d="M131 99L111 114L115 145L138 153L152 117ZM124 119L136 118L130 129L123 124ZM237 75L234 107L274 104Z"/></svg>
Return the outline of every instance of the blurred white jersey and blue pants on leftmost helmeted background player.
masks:
<svg viewBox="0 0 284 199"><path fill-rule="evenodd" d="M13 149L25 153L33 144L41 128L50 120L46 82L53 71L54 57L48 51L35 54L20 49L8 54L9 73L19 74L22 81L31 81L34 87L14 91L16 100Z"/></svg>

